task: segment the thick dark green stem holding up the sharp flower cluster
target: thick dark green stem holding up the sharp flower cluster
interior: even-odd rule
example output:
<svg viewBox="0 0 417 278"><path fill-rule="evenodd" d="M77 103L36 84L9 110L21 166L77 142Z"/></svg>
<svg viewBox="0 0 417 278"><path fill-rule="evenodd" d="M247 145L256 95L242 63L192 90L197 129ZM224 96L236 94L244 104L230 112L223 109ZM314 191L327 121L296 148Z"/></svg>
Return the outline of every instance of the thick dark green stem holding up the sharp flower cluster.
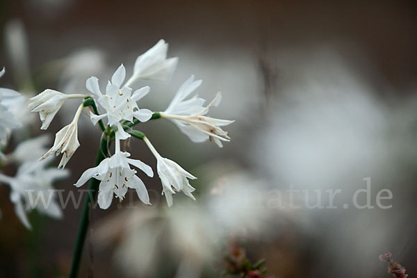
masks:
<svg viewBox="0 0 417 278"><path fill-rule="evenodd" d="M95 161L95 166L99 165L101 161L104 160L107 154L107 138L103 137L100 142L100 149L97 152L97 158ZM95 202L95 197L97 195L98 187L100 181L94 178L90 179L90 186L88 186L88 195L85 199L85 204L83 208L83 214L81 215L81 220L79 224L79 231L76 237L74 254L72 256L72 265L70 271L70 278L77 277L81 262L81 256L83 255L83 246L85 241L85 235L87 234L88 224L90 222L90 207L91 204Z"/></svg>

